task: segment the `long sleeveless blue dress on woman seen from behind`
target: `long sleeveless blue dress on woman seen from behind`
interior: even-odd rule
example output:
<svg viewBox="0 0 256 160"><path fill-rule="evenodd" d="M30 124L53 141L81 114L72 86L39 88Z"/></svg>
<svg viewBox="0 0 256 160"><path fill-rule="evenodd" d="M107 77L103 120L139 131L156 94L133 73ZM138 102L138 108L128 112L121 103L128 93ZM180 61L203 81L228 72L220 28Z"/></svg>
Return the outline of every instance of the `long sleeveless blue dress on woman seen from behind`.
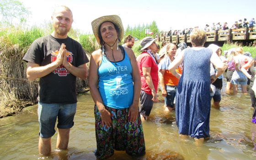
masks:
<svg viewBox="0 0 256 160"><path fill-rule="evenodd" d="M176 91L179 133L196 139L209 137L211 56L209 48L186 48L183 72Z"/></svg>

